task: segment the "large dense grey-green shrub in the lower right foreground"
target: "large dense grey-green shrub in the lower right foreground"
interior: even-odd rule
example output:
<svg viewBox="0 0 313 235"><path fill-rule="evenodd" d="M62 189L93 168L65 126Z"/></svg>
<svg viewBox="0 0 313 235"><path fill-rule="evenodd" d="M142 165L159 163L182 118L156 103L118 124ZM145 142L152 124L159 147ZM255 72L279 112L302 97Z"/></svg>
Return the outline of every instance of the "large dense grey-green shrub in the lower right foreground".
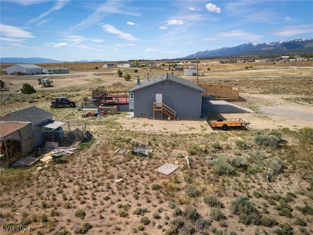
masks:
<svg viewBox="0 0 313 235"><path fill-rule="evenodd" d="M232 212L239 215L239 222L243 224L258 224L260 216L254 208L253 202L247 196L240 196L231 202Z"/></svg>

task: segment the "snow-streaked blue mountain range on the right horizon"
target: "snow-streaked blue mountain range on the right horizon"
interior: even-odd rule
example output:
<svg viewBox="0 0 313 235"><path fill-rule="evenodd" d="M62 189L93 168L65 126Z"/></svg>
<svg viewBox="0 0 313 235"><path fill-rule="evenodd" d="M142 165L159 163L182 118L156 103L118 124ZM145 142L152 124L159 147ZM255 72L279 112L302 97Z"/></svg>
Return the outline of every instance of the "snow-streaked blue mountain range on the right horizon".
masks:
<svg viewBox="0 0 313 235"><path fill-rule="evenodd" d="M294 39L268 43L246 43L237 47L223 47L214 50L198 51L199 58L221 58L239 56L313 54L313 38ZM197 53L179 59L195 59Z"/></svg>

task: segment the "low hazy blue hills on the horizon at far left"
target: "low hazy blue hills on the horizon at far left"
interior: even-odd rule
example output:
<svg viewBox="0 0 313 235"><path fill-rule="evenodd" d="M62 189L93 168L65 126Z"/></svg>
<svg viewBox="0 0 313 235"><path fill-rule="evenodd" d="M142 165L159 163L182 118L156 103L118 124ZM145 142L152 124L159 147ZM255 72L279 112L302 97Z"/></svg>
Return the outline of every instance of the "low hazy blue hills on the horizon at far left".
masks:
<svg viewBox="0 0 313 235"><path fill-rule="evenodd" d="M40 57L30 57L30 58L18 58L18 57L3 57L0 58L1 64L18 64L18 63L38 63L38 64L45 64L45 63L65 63L65 62L72 62L72 61L60 61L60 60L53 60L47 58L40 58ZM102 62L102 60L79 60L73 62Z"/></svg>

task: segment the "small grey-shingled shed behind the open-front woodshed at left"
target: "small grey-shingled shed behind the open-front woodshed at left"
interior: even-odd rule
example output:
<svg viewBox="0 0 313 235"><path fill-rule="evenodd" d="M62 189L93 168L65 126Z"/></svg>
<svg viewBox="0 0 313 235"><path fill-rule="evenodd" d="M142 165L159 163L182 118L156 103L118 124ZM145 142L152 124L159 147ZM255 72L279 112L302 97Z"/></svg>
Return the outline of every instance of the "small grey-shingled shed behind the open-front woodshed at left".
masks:
<svg viewBox="0 0 313 235"><path fill-rule="evenodd" d="M33 135L34 146L37 147L45 143L48 136L59 135L58 131L62 130L65 122L52 120L53 114L32 106L26 109L9 113L0 118L1 123L31 123L32 133L27 133L31 137ZM24 133L25 134L25 133ZM56 136L57 137L57 136Z"/></svg>

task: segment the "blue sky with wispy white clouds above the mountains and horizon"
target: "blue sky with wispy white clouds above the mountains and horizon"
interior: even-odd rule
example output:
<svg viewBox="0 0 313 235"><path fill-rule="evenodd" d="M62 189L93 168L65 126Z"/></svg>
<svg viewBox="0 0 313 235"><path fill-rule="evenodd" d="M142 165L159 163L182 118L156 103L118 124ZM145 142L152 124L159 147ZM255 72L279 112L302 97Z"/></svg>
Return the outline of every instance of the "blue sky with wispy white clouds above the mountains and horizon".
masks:
<svg viewBox="0 0 313 235"><path fill-rule="evenodd" d="M174 59L313 38L312 0L1 0L0 57Z"/></svg>

